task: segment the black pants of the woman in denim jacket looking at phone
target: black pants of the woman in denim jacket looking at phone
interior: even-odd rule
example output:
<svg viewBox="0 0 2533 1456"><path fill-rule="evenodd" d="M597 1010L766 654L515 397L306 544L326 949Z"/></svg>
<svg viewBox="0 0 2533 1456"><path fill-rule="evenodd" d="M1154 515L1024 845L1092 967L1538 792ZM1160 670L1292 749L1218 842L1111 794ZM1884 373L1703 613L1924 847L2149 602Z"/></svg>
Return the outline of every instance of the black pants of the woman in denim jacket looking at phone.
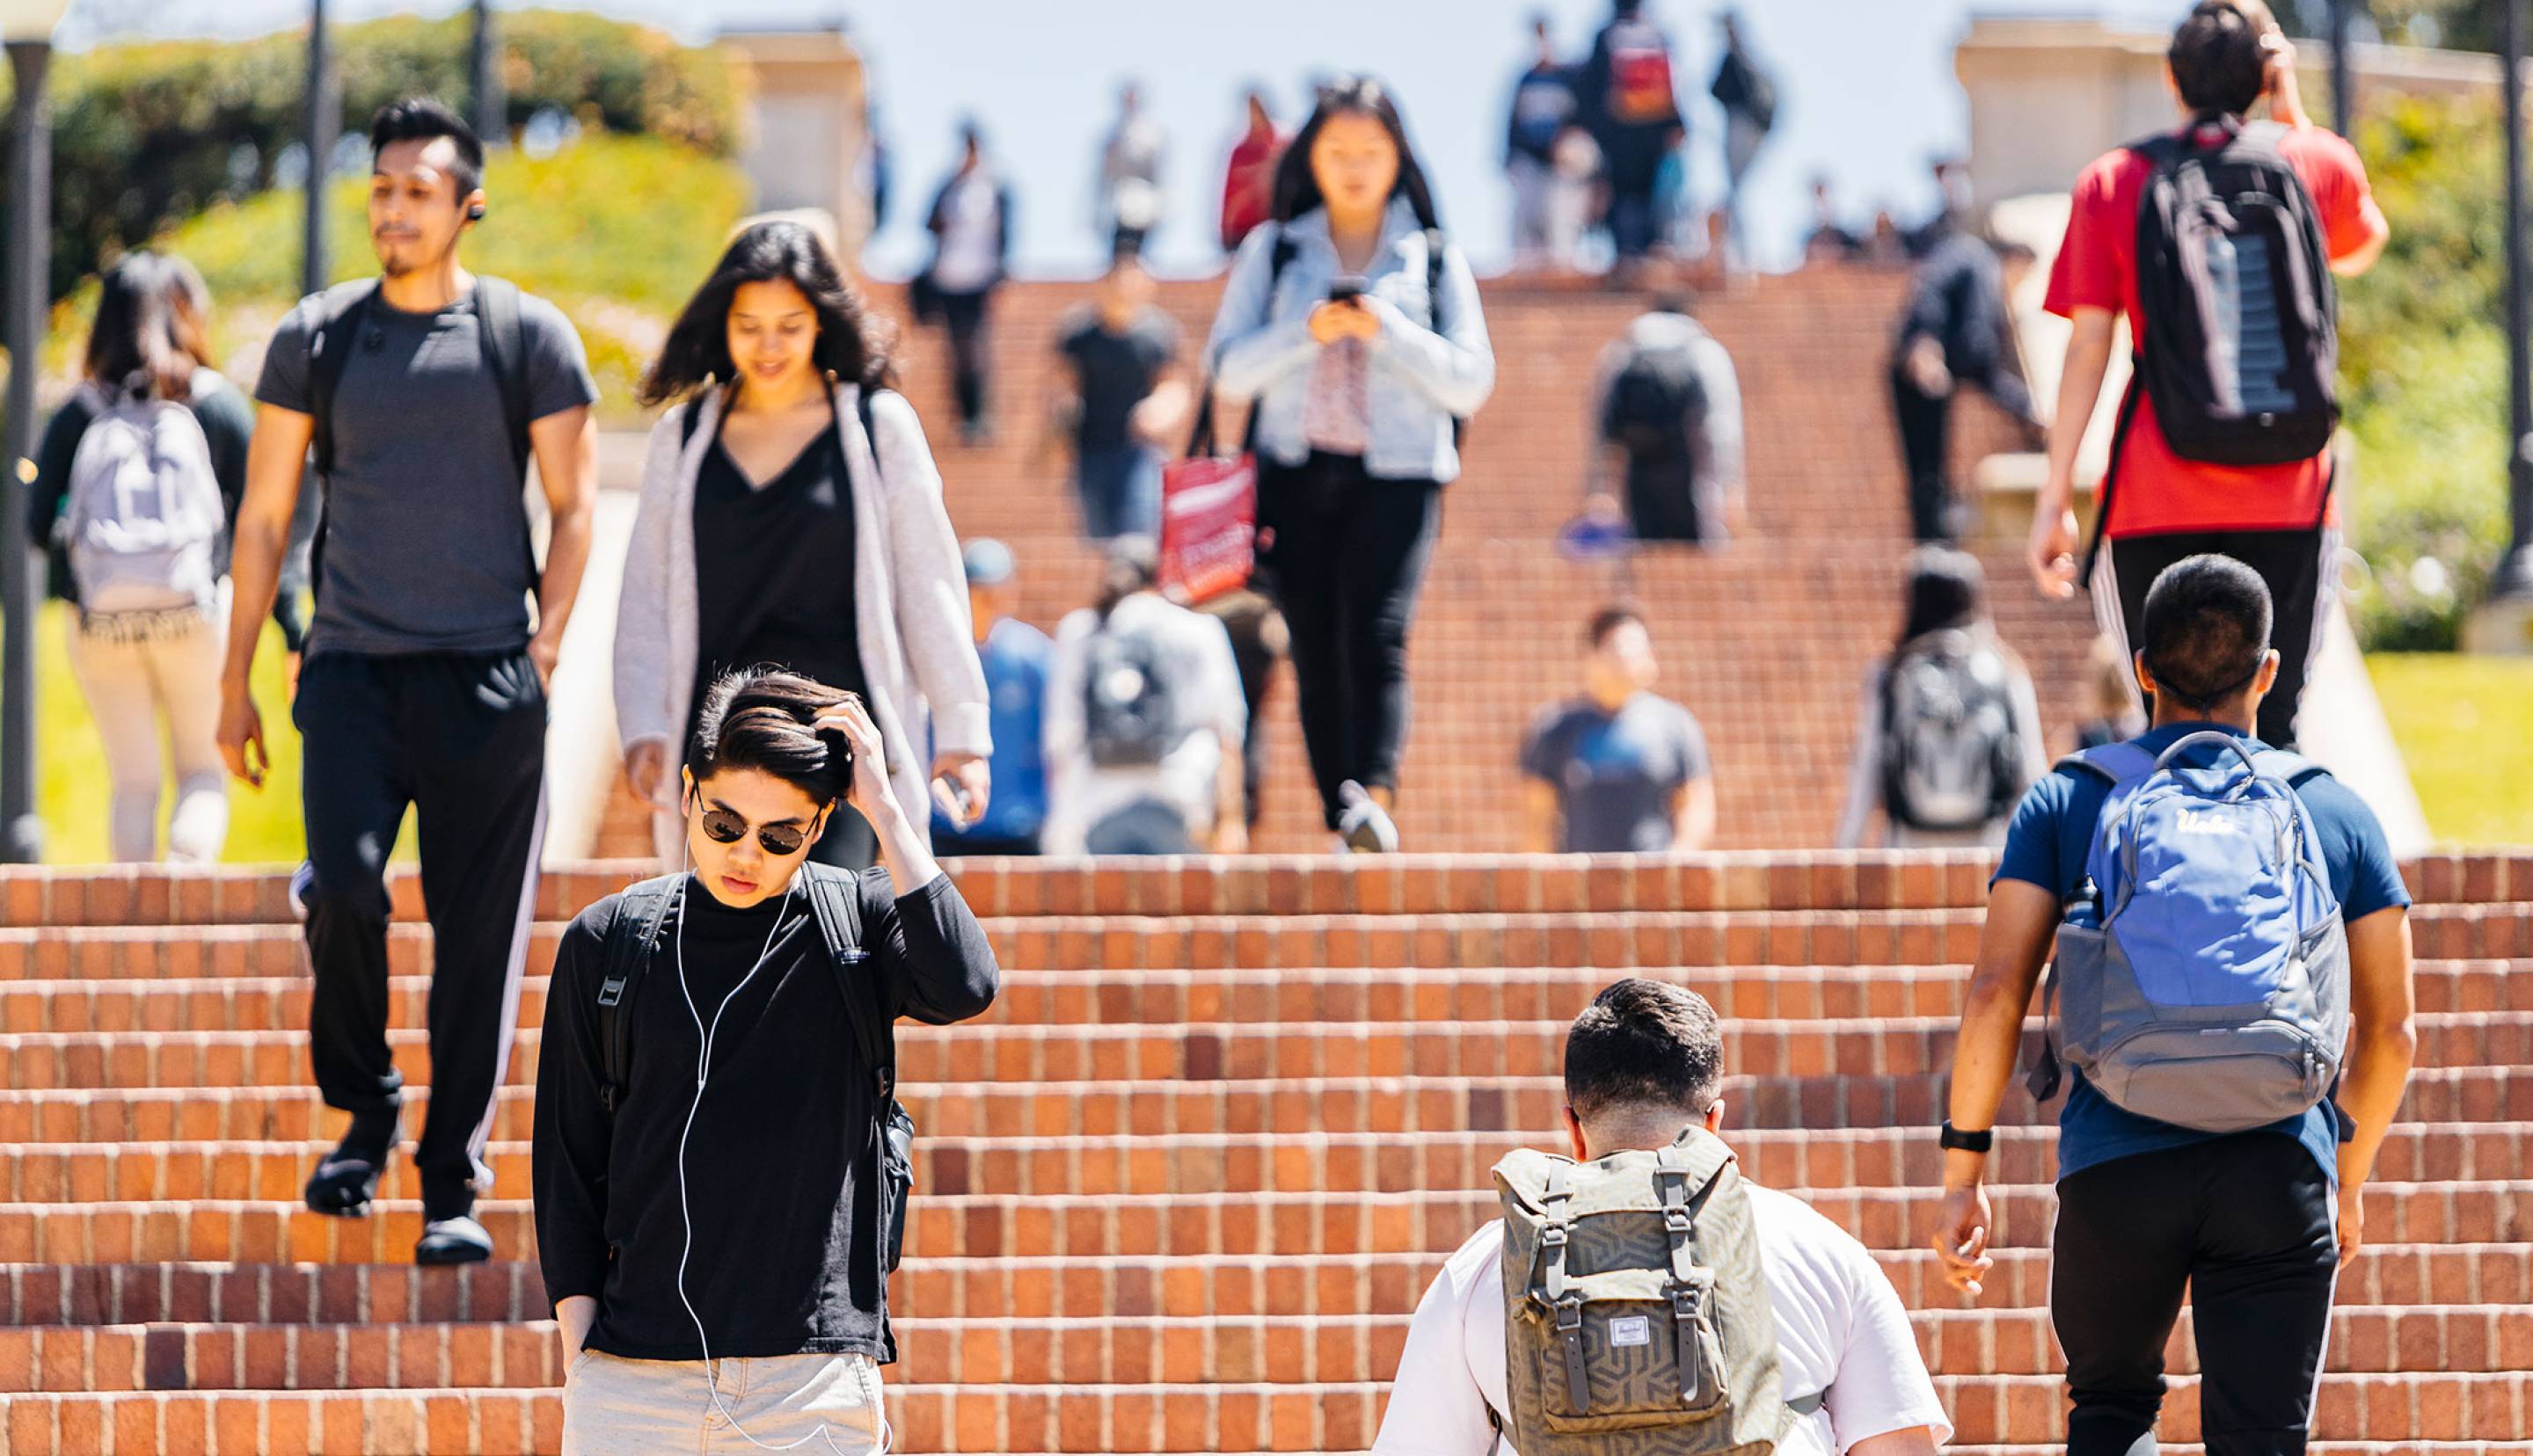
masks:
<svg viewBox="0 0 2533 1456"><path fill-rule="evenodd" d="M1259 463L1261 562L1292 633L1302 747L1327 828L1345 780L1398 788L1408 623L1439 524L1441 486L1373 479L1360 456Z"/></svg>

